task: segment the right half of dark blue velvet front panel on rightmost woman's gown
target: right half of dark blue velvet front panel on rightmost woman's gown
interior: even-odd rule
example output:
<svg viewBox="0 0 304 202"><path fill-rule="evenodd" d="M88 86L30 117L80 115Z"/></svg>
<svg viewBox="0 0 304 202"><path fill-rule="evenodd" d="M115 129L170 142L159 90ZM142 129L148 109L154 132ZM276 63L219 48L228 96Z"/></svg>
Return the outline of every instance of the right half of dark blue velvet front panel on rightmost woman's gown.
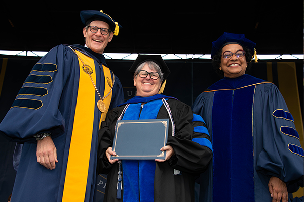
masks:
<svg viewBox="0 0 304 202"><path fill-rule="evenodd" d="M254 202L252 108L255 86L235 90L232 125L232 198Z"/></svg>

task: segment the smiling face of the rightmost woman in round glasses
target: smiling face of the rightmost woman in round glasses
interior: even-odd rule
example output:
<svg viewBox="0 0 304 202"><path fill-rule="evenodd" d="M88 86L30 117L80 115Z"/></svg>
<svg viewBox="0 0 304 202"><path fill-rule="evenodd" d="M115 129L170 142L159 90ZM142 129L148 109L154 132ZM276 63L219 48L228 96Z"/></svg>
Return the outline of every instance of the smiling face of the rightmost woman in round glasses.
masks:
<svg viewBox="0 0 304 202"><path fill-rule="evenodd" d="M236 53L239 50L243 50L243 47L238 44L228 44L222 48L222 53L230 51ZM239 59L235 54L229 60L224 59L221 56L221 63L219 69L224 72L225 77L237 78L245 74L247 68L246 57Z"/></svg>

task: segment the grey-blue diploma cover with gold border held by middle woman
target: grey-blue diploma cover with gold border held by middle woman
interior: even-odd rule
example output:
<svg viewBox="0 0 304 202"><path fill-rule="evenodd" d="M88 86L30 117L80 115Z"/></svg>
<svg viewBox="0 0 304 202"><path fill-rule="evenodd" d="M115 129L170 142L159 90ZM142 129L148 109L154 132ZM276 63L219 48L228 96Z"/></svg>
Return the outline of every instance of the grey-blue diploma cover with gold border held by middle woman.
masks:
<svg viewBox="0 0 304 202"><path fill-rule="evenodd" d="M165 159L169 119L117 121L113 151L119 160Z"/></svg>

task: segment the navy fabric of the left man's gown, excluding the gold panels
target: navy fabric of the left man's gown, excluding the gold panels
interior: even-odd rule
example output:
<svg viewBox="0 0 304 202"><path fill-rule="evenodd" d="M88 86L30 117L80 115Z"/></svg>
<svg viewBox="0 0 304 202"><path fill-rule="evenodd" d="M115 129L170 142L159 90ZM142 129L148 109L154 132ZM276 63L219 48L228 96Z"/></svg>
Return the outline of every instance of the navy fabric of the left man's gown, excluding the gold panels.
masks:
<svg viewBox="0 0 304 202"><path fill-rule="evenodd" d="M75 45L73 47L94 59L97 78L95 84L100 94L103 95L105 81L102 64L106 66L105 58L103 55L92 53L90 49L83 46ZM9 110L0 124L0 131L11 140L24 142L12 201L54 202L62 200L75 105L78 99L79 75L80 66L74 52L66 45L54 47L34 66L23 89L19 91L13 104L14 107ZM90 78L88 77L88 79ZM32 82L33 80L34 82ZM29 91L24 93L24 88ZM94 89L93 84L92 88ZM124 102L123 96L121 83L115 77L110 108ZM27 102L20 103L19 98L23 98ZM99 100L97 94L95 100ZM92 201L95 189L100 116L101 112L95 105L85 201ZM52 133L58 159L56 168L53 170L37 163L37 141L33 135L40 132ZM79 163L81 164L81 160Z"/></svg>

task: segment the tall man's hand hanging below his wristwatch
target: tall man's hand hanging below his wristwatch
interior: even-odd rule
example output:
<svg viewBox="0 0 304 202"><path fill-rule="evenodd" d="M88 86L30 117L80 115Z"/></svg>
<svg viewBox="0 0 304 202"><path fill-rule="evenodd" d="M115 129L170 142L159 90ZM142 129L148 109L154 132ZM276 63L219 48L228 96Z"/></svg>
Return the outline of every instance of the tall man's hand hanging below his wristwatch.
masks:
<svg viewBox="0 0 304 202"><path fill-rule="evenodd" d="M50 170L55 169L55 163L58 162L57 149L52 138L48 136L37 141L37 162Z"/></svg>

